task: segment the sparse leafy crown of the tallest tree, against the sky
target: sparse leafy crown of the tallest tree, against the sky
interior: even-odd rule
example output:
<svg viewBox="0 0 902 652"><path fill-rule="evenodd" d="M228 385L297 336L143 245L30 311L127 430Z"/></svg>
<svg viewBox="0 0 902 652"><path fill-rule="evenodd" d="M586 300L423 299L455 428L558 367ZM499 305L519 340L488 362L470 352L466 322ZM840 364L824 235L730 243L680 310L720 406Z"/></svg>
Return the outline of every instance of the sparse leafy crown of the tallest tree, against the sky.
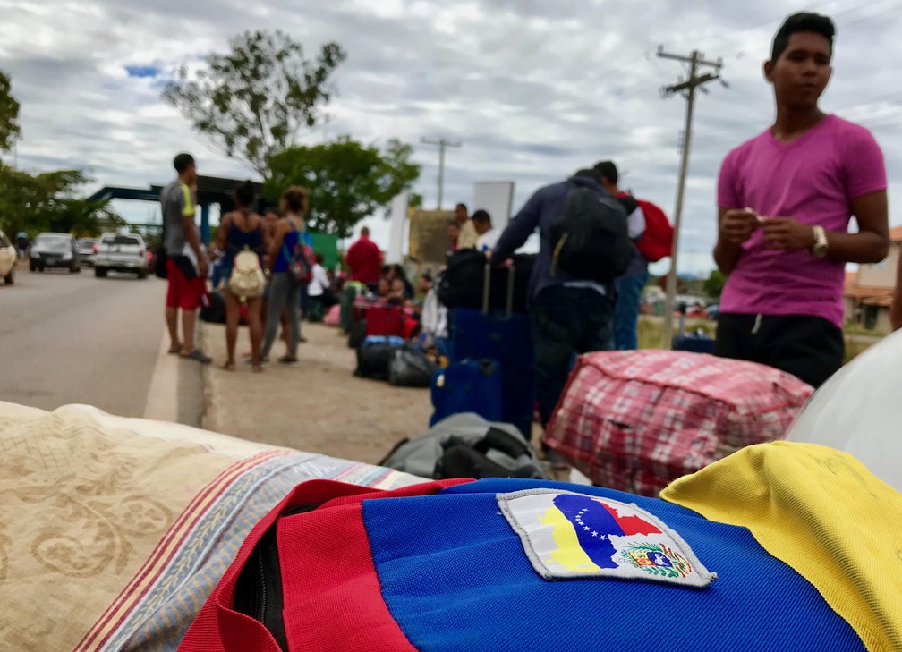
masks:
<svg viewBox="0 0 902 652"><path fill-rule="evenodd" d="M329 78L347 55L330 42L306 60L300 43L278 30L244 32L230 47L196 74L179 69L162 96L217 149L266 177L270 158L318 123L332 97Z"/></svg>

